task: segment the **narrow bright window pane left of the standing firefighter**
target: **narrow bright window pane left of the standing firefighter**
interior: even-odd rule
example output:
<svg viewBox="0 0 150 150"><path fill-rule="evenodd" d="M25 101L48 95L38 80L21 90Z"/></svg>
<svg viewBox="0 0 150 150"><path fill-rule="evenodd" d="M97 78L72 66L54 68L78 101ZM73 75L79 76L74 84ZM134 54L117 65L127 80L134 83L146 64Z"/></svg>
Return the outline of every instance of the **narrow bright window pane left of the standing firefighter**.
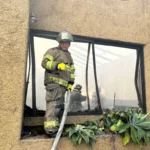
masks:
<svg viewBox="0 0 150 150"><path fill-rule="evenodd" d="M45 38L34 37L34 51L35 51L35 67L36 67L36 105L37 109L45 110L45 87L44 87L44 69L41 66L41 61L44 53L52 47L58 46L56 40L49 40ZM30 84L32 79L30 77ZM31 93L31 89L28 91ZM32 106L32 99L27 97L27 105Z"/></svg>

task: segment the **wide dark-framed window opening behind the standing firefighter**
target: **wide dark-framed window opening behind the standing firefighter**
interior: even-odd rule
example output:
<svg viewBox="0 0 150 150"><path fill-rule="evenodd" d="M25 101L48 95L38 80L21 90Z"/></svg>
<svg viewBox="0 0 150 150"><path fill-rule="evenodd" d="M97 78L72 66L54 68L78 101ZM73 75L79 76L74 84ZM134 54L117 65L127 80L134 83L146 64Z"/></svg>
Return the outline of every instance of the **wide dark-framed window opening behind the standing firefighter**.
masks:
<svg viewBox="0 0 150 150"><path fill-rule="evenodd" d="M32 130L32 126L42 126L40 117L45 114L46 103L41 60L49 48L58 45L55 41L57 34L30 31L24 132ZM82 86L84 100L72 108L68 116L100 115L107 108L124 110L126 107L141 107L146 113L142 45L74 35L69 51L76 68L75 84ZM41 119L40 122L36 122L35 118ZM43 133L44 130L41 131Z"/></svg>

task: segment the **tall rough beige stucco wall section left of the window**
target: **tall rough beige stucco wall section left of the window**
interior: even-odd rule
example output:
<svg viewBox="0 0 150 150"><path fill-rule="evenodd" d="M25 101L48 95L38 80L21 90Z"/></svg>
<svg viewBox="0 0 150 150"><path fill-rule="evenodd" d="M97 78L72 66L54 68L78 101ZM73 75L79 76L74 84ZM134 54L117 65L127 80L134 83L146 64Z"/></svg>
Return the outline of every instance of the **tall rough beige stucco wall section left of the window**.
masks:
<svg viewBox="0 0 150 150"><path fill-rule="evenodd" d="M0 150L20 138L28 37L29 2L0 1Z"/></svg>

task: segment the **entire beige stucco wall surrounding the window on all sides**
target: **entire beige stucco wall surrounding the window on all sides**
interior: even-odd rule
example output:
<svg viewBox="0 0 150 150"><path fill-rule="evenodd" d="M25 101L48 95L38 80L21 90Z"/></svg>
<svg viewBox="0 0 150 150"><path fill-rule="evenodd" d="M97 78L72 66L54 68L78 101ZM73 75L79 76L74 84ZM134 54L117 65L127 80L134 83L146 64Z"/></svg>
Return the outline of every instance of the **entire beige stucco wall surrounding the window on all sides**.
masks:
<svg viewBox="0 0 150 150"><path fill-rule="evenodd" d="M34 5L33 5L34 4ZM29 22L28 0L0 2L0 150L48 150L53 140L28 139L20 141L25 81L27 36ZM31 0L37 18L33 29L69 30L76 35L98 37L145 44L145 77L147 108L150 111L150 1L149 0ZM145 150L149 149L148 145ZM139 149L129 144L119 150ZM89 149L82 144L74 148L66 138L59 150ZM101 136L95 150L112 149L110 136Z"/></svg>

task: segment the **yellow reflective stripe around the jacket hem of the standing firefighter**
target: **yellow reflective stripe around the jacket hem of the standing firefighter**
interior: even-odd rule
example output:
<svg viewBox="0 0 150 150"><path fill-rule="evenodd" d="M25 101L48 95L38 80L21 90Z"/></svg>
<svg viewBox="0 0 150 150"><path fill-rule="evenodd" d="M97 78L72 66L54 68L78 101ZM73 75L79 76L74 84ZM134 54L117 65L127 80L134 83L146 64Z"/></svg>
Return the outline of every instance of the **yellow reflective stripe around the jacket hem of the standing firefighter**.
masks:
<svg viewBox="0 0 150 150"><path fill-rule="evenodd" d="M55 83L57 83L57 84L59 84L59 85L63 85L65 87L68 86L68 81L60 79L60 78L49 77L49 78L45 79L45 82L52 82L52 81L55 82Z"/></svg>

